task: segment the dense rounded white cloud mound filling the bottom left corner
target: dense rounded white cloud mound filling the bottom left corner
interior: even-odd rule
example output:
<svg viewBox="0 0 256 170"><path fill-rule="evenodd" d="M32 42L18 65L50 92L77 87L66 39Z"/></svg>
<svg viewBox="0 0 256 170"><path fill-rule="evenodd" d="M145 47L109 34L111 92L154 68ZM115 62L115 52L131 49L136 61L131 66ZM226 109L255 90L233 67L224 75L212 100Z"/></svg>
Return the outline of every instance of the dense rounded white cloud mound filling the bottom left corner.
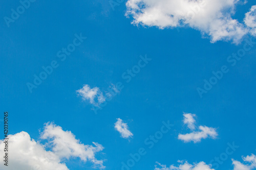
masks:
<svg viewBox="0 0 256 170"><path fill-rule="evenodd" d="M9 162L8 169L10 170L40 170L40 169L60 169L68 170L64 163L60 163L60 158L51 151L46 151L44 145L31 139L27 132L16 133L9 135ZM4 155L3 140L0 141L0 153ZM0 164L0 169L5 169L3 163Z"/></svg>

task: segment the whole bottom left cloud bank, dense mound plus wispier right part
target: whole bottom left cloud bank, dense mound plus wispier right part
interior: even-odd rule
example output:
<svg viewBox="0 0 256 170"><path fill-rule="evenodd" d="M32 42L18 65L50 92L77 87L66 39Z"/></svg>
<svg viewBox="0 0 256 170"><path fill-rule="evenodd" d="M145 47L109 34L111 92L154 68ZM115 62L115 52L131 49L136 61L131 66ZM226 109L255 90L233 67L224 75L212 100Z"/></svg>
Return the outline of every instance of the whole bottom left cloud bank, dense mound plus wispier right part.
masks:
<svg viewBox="0 0 256 170"><path fill-rule="evenodd" d="M70 131L63 131L52 123L46 124L41 138L47 139L45 145L31 139L27 132L9 135L8 169L68 170L65 161L70 158L80 158L84 162L92 162L94 167L104 168L103 161L95 158L95 154L103 150L102 145L98 143L93 142L95 147L85 145ZM4 155L4 142L0 142L0 154ZM4 166L1 163L0 169L4 169Z"/></svg>

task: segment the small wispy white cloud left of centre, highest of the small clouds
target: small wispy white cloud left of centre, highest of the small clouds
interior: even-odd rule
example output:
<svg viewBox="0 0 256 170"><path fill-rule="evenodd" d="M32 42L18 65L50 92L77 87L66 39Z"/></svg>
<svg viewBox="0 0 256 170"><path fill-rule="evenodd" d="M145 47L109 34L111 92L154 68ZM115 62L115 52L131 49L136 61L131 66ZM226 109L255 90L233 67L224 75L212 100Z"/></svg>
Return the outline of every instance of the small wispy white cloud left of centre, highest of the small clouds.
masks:
<svg viewBox="0 0 256 170"><path fill-rule="evenodd" d="M88 84L85 84L81 89L76 90L76 92L82 96L83 100L89 100L95 106L99 106L105 102L105 97L98 87L90 88Z"/></svg>

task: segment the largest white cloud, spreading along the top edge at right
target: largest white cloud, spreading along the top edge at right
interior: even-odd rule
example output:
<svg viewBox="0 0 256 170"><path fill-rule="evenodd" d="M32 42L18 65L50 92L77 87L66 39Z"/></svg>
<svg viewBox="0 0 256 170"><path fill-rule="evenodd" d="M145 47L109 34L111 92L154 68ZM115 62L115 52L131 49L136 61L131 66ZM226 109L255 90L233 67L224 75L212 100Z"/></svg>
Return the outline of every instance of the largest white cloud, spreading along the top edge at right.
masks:
<svg viewBox="0 0 256 170"><path fill-rule="evenodd" d="M188 26L201 31L204 37L209 36L211 42L231 40L239 43L251 28L232 18L238 3L245 2L241 0L128 0L126 15L134 18L132 23L135 25L156 26L160 29Z"/></svg>

